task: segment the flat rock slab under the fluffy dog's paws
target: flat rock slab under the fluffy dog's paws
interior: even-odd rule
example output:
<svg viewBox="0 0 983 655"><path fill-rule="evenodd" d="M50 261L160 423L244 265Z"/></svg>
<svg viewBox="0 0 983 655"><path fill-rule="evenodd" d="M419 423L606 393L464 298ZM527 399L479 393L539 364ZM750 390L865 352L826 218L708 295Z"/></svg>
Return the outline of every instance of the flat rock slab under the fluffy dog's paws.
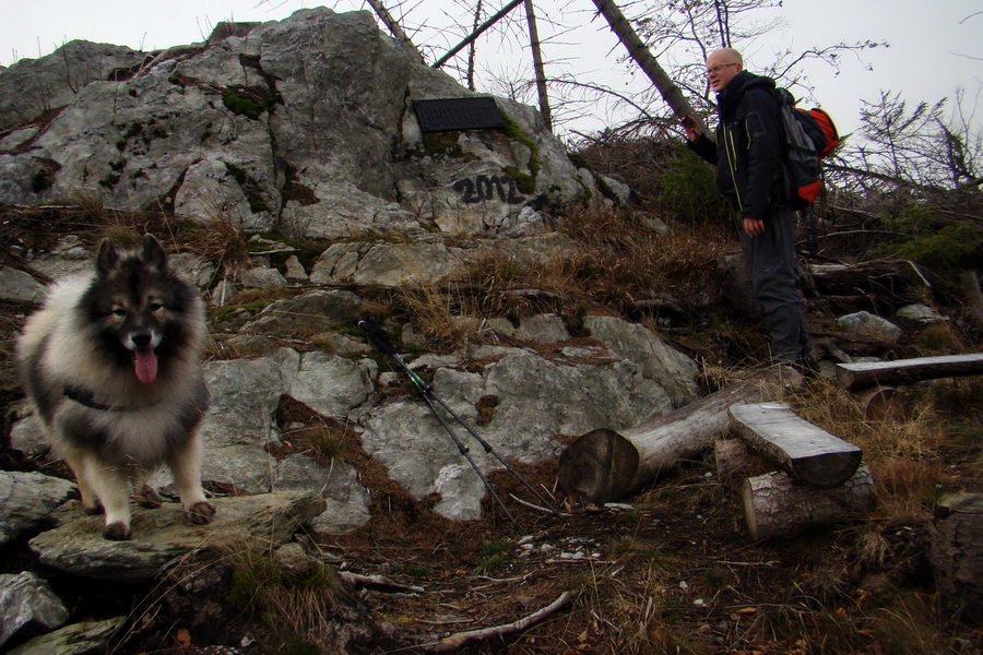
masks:
<svg viewBox="0 0 983 655"><path fill-rule="evenodd" d="M192 550L235 547L253 537L272 544L287 541L298 527L324 511L315 491L277 491L216 498L217 513L209 525L192 525L177 503L157 509L133 508L133 538L104 539L103 516L83 514L78 502L67 503L57 519L63 523L29 541L42 563L75 575L116 582L147 582L162 567Z"/></svg>

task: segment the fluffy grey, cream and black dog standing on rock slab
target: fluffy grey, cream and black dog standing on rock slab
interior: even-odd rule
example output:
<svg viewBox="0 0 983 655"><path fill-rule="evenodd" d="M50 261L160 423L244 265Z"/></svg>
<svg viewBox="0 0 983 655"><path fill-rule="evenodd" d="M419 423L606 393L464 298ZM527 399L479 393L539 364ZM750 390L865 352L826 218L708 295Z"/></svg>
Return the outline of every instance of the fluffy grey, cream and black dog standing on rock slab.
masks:
<svg viewBox="0 0 983 655"><path fill-rule="evenodd" d="M201 488L198 426L209 405L198 289L167 265L152 235L142 248L99 246L95 271L54 285L27 319L17 364L45 437L71 466L82 507L106 512L103 536L129 539L130 491L163 464L190 521L215 508Z"/></svg>

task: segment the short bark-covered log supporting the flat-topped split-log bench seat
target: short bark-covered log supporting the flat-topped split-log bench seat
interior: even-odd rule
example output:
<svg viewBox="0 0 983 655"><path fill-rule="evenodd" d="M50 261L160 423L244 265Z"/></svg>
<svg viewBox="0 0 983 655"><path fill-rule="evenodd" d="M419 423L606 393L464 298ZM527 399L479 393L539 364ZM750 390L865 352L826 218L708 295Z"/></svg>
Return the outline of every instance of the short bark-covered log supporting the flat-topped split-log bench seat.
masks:
<svg viewBox="0 0 983 655"><path fill-rule="evenodd" d="M782 471L747 478L742 491L751 539L793 537L806 529L857 521L874 509L874 478L862 465L838 487L817 489Z"/></svg>

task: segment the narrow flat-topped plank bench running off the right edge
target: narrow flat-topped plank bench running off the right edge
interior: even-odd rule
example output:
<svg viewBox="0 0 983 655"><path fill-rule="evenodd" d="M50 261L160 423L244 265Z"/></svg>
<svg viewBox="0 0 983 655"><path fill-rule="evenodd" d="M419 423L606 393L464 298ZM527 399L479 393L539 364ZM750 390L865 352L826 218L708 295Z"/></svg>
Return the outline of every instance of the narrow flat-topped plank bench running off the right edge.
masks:
<svg viewBox="0 0 983 655"><path fill-rule="evenodd" d="M891 386L935 378L979 374L983 374L983 353L837 365L837 380L846 391L875 384Z"/></svg>

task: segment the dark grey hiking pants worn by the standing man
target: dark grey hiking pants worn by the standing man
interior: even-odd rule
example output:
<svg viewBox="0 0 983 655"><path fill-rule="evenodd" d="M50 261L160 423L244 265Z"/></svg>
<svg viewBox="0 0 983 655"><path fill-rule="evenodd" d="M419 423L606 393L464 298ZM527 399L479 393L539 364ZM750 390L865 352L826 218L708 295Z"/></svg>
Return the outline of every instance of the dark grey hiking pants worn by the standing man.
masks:
<svg viewBox="0 0 983 655"><path fill-rule="evenodd" d="M775 207L757 237L748 237L741 226L741 248L771 333L772 361L801 361L812 341L795 287L792 209Z"/></svg>

